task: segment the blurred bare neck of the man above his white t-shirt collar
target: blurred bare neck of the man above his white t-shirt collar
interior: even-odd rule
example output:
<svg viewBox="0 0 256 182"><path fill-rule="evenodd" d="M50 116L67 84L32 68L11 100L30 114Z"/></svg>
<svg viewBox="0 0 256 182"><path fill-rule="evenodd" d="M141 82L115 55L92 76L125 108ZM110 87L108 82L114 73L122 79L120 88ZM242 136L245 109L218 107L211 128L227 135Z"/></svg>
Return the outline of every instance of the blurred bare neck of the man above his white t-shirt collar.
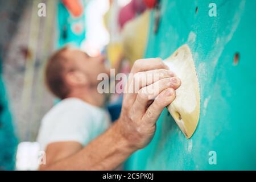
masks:
<svg viewBox="0 0 256 182"><path fill-rule="evenodd" d="M77 89L68 95L68 98L79 98L80 100L97 107L102 107L105 104L105 95L98 93L96 88Z"/></svg>

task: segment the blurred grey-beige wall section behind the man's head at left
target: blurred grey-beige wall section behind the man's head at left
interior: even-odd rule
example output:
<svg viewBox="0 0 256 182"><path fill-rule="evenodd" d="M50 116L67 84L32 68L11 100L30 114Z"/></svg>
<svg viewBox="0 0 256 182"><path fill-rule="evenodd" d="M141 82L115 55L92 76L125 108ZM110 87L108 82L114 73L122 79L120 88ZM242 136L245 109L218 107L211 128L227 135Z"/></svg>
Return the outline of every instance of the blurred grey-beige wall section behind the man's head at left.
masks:
<svg viewBox="0 0 256 182"><path fill-rule="evenodd" d="M52 4L48 18L37 15L39 2ZM42 71L55 43L55 1L1 1L0 9L2 75L16 134L20 141L32 141L53 100L43 85Z"/></svg>

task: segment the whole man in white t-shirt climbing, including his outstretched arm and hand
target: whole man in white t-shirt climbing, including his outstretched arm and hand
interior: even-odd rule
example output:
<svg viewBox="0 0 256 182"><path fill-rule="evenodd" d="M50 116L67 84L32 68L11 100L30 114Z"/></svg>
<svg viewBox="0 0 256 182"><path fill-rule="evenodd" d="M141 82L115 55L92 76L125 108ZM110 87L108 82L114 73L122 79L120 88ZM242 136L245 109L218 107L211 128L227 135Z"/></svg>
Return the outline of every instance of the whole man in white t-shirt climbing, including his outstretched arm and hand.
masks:
<svg viewBox="0 0 256 182"><path fill-rule="evenodd" d="M160 113L175 99L179 78L160 59L136 61L131 69L134 79L130 77L127 85L140 85L140 90L124 95L119 119L104 133L110 122L102 109L105 95L97 91L97 76L110 72L104 60L67 47L49 59L46 84L61 102L40 127L38 142L46 151L46 165L40 169L115 169L154 136ZM152 73L159 74L158 79L139 84ZM153 84L158 92L149 100L152 93L144 91Z"/></svg>

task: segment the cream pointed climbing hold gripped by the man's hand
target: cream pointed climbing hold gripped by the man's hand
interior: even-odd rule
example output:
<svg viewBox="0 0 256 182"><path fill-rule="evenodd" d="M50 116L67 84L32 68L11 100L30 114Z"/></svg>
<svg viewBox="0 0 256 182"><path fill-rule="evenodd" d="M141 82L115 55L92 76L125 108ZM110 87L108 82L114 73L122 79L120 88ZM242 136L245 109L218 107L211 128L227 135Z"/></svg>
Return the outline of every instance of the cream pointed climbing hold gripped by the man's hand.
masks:
<svg viewBox="0 0 256 182"><path fill-rule="evenodd" d="M176 99L168 106L168 110L185 137L191 138L199 122L200 92L188 45L181 46L164 63L181 79L181 86L176 90Z"/></svg>

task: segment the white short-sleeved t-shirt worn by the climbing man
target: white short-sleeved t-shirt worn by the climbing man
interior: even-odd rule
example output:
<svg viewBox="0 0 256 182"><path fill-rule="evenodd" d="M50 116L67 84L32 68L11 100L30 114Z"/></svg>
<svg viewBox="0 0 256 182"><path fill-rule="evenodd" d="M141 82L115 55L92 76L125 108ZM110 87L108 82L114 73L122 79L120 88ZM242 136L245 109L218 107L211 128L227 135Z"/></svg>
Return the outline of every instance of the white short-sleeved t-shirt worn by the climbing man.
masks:
<svg viewBox="0 0 256 182"><path fill-rule="evenodd" d="M106 110L78 98L67 98L44 116L38 134L41 150L52 142L79 142L82 146L110 126Z"/></svg>

